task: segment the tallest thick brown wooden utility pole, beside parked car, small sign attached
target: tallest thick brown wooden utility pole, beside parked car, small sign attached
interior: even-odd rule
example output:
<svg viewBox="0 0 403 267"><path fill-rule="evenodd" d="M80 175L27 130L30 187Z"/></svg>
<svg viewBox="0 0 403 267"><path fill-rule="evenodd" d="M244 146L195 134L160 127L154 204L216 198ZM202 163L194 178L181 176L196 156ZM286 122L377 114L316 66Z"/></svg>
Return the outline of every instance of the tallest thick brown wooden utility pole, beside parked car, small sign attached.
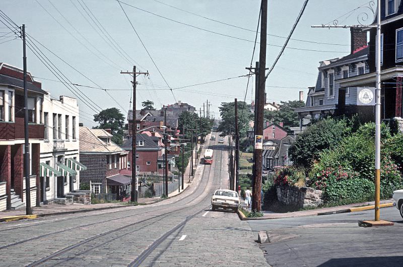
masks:
<svg viewBox="0 0 403 267"><path fill-rule="evenodd" d="M255 129L256 135L263 135L263 108L264 108L264 88L266 84L266 38L267 38L267 0L261 1L261 22L260 22L260 54L259 54L259 88L257 92L256 119ZM262 171L262 150L255 148L255 176L252 189L252 211L260 212L261 208L261 171Z"/></svg>

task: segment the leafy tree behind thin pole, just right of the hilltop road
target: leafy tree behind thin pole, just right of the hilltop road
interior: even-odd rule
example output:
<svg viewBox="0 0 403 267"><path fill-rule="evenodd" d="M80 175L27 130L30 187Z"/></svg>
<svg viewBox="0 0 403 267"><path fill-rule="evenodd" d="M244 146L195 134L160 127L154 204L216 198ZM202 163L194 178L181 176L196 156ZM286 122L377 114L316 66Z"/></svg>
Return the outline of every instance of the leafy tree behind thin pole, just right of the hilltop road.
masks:
<svg viewBox="0 0 403 267"><path fill-rule="evenodd" d="M243 112L242 112L243 108ZM221 103L220 115L221 123L218 126L218 131L222 132L223 136L229 135L235 131L235 102ZM239 137L245 137L246 131L249 128L249 121L252 119L253 114L250 111L250 105L243 101L238 102L238 123L239 123Z"/></svg>

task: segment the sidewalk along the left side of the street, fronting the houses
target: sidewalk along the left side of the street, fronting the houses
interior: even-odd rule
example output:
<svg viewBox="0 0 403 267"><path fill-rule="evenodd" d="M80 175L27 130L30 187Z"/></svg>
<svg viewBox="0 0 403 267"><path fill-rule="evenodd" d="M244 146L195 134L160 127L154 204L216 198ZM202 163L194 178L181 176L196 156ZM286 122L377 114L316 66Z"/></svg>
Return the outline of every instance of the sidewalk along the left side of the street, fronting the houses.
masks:
<svg viewBox="0 0 403 267"><path fill-rule="evenodd" d="M193 150L193 153L194 153L194 150ZM204 147L202 147L202 150L200 153L201 155L203 155L203 151L204 151ZM196 175L196 171L198 171L200 169L200 168L197 168L197 166L199 166L199 165L200 165L200 157L197 161L197 164L195 166L193 166L194 175ZM169 193L168 198L174 197L174 196L182 193L192 183L193 176L190 176L190 179L189 179L189 172L190 172L189 169L190 169L190 162L188 163L185 173L184 173L183 190L181 187L180 192L178 192L178 190L175 190L175 191ZM160 201L164 201L165 199L168 199L168 198L161 198L161 197L139 198L138 203L149 205L149 204L154 204L154 203L157 203ZM27 218L34 219L34 218L42 217L42 216L74 214L74 213L82 213L82 212L117 209L117 208L125 208L128 206L129 205L127 205L125 203L103 203L103 204L91 204L91 205L83 205L83 204L52 205L52 204L48 204L48 205L42 205L41 207L33 207L32 210L33 210L34 216L29 216L29 217L27 217L25 215L25 208L20 209L20 210L9 210L9 211L0 212L0 222L27 219Z"/></svg>

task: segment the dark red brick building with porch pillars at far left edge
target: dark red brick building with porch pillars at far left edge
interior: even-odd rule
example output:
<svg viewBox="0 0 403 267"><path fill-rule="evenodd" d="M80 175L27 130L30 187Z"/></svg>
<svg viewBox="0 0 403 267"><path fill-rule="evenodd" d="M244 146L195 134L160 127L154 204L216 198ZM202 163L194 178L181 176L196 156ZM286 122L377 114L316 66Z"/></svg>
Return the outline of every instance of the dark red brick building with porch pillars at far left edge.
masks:
<svg viewBox="0 0 403 267"><path fill-rule="evenodd" d="M43 141L41 83L27 73L31 206L40 202L39 155ZM0 211L25 207L23 70L0 63Z"/></svg>

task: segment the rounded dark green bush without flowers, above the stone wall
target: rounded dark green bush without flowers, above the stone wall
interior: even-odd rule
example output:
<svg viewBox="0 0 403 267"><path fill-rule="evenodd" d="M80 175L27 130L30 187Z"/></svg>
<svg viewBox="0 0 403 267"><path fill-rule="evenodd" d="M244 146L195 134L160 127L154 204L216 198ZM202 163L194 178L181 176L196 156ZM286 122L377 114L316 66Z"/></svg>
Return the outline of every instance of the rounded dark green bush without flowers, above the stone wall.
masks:
<svg viewBox="0 0 403 267"><path fill-rule="evenodd" d="M321 119L302 132L290 146L291 160L298 166L310 168L320 152L336 147L351 133L347 120Z"/></svg>

